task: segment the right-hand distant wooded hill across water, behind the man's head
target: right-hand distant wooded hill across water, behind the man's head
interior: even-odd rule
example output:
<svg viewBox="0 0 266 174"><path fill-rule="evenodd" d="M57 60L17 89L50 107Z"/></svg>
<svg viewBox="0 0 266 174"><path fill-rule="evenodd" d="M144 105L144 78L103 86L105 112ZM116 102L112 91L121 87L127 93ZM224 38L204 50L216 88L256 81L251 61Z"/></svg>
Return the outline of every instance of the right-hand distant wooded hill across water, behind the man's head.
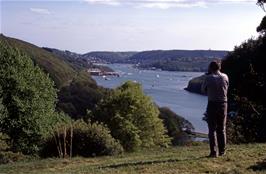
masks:
<svg viewBox="0 0 266 174"><path fill-rule="evenodd" d="M217 50L154 50L133 55L130 62L141 68L156 68L167 71L207 71L208 64L227 55L228 51Z"/></svg>

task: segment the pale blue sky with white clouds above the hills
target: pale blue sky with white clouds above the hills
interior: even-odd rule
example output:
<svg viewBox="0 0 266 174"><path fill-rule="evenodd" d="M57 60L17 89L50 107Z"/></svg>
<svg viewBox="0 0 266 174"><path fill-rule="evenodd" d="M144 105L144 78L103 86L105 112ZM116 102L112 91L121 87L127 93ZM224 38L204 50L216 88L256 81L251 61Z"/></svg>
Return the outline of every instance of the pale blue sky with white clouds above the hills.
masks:
<svg viewBox="0 0 266 174"><path fill-rule="evenodd" d="M233 50L256 37L256 0L0 0L1 33L90 51Z"/></svg>

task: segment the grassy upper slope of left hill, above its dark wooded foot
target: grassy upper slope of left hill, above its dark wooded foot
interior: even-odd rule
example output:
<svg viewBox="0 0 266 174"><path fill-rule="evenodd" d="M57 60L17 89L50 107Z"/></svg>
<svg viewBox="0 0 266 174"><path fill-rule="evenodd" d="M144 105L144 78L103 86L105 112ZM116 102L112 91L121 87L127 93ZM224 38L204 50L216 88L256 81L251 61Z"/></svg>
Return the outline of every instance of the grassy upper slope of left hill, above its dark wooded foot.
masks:
<svg viewBox="0 0 266 174"><path fill-rule="evenodd" d="M68 63L40 47L2 34L0 41L5 41L11 47L18 48L30 56L46 73L49 73L58 88L69 84L76 75L76 71Z"/></svg>

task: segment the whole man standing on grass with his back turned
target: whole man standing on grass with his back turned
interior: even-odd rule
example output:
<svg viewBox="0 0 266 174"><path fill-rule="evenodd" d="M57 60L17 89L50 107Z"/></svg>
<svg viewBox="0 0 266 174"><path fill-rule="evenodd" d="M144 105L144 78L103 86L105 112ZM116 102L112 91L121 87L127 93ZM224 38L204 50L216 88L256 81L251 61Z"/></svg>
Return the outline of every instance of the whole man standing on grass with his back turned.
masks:
<svg viewBox="0 0 266 174"><path fill-rule="evenodd" d="M210 157L225 154L227 90L229 80L226 74L220 72L220 63L213 61L209 65L209 74L202 84L202 92L207 93L207 123L209 128Z"/></svg>

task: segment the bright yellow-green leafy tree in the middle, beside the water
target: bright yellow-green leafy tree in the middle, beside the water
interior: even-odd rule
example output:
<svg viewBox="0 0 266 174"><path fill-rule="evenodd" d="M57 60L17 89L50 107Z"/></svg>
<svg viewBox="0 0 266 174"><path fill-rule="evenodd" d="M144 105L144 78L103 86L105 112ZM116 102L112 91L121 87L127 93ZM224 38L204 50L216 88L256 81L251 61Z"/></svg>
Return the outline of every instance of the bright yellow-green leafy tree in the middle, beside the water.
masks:
<svg viewBox="0 0 266 174"><path fill-rule="evenodd" d="M126 82L115 89L90 118L105 123L126 150L169 143L158 108L137 83Z"/></svg>

